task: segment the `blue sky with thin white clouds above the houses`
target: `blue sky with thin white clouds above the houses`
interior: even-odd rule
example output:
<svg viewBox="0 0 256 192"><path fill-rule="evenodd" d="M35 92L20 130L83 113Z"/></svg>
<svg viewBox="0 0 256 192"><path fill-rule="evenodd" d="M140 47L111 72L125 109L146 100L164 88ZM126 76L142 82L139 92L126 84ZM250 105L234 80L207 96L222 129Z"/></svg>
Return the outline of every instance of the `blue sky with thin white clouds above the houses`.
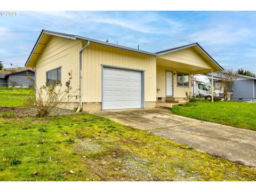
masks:
<svg viewBox="0 0 256 192"><path fill-rule="evenodd" d="M0 16L0 61L24 66L42 29L149 52L199 43L222 67L256 73L256 12L18 12ZM9 33L5 33L9 31ZM11 33L11 31L37 31Z"/></svg>

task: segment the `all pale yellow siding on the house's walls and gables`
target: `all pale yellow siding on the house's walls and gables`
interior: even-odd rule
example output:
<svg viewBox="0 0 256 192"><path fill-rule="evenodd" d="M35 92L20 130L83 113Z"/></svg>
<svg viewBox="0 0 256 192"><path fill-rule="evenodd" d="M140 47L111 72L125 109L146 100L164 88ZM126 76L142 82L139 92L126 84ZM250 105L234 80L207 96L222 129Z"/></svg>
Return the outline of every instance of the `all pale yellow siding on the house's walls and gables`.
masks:
<svg viewBox="0 0 256 192"><path fill-rule="evenodd" d="M52 36L35 63L37 86L45 85L47 70L62 67L62 89L66 88L65 82L70 80L73 94L78 95L78 52L85 44L86 42ZM209 64L192 48L163 56L170 60L178 59L178 62L182 60L184 63L190 62L196 66L209 68ZM177 71L190 74L189 87L177 87L177 75L174 75L174 98L185 98L185 92L191 91L189 70L156 67L156 57L91 43L82 55L82 102L101 102L101 64L146 70L146 102L155 102L156 97L166 97L166 70L173 71L174 74L177 74ZM72 70L71 79L68 77L70 69ZM158 93L156 93L156 87L160 89ZM78 98L72 98L70 101L78 102Z"/></svg>

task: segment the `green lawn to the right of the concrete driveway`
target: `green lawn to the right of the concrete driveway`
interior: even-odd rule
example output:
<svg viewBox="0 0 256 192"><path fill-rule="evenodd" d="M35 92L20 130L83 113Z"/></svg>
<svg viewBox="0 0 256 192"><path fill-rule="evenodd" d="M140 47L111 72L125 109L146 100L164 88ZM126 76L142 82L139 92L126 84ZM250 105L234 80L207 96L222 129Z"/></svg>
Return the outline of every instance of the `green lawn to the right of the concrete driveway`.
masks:
<svg viewBox="0 0 256 192"><path fill-rule="evenodd" d="M256 103L196 101L173 106L173 114L256 131Z"/></svg>

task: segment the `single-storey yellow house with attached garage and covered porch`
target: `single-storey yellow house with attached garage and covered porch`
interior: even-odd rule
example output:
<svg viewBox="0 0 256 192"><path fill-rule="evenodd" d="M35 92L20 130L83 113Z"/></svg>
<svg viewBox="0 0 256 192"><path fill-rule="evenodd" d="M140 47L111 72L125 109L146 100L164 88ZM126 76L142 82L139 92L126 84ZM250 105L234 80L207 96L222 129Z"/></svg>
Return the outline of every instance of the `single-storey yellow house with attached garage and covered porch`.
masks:
<svg viewBox="0 0 256 192"><path fill-rule="evenodd" d="M191 91L191 75L223 68L198 43L150 53L82 36L42 30L26 62L36 86L72 87L71 108L154 108Z"/></svg>

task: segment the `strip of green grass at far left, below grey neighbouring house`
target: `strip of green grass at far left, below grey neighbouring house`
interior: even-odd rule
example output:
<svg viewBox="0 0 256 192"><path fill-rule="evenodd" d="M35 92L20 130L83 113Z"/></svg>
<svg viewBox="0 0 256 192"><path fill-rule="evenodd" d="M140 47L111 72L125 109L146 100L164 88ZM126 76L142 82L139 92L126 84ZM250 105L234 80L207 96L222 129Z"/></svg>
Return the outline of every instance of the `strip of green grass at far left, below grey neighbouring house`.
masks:
<svg viewBox="0 0 256 192"><path fill-rule="evenodd" d="M27 98L34 96L34 89L0 87L0 107L20 107Z"/></svg>

